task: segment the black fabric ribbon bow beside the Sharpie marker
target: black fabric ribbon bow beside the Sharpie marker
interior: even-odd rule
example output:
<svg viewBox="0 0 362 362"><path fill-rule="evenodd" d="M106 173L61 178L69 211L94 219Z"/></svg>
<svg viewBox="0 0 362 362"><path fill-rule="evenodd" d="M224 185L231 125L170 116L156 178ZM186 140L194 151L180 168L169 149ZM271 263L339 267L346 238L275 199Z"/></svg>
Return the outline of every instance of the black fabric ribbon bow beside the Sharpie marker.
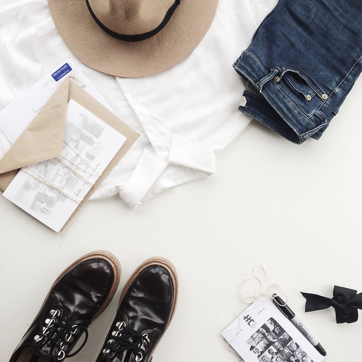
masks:
<svg viewBox="0 0 362 362"><path fill-rule="evenodd" d="M358 309L362 309L362 293L357 294L354 289L334 286L333 298L318 296L317 294L302 293L305 299L305 311L335 309L337 323L354 323L358 320Z"/></svg>

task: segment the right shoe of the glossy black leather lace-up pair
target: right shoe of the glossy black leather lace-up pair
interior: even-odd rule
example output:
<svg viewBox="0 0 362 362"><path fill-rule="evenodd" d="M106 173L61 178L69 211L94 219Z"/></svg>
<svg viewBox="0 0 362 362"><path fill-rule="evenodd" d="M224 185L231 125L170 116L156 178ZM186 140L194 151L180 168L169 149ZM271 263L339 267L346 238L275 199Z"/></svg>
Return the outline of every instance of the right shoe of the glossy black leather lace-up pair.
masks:
<svg viewBox="0 0 362 362"><path fill-rule="evenodd" d="M97 362L149 362L176 308L177 274L166 259L143 262L127 282Z"/></svg>

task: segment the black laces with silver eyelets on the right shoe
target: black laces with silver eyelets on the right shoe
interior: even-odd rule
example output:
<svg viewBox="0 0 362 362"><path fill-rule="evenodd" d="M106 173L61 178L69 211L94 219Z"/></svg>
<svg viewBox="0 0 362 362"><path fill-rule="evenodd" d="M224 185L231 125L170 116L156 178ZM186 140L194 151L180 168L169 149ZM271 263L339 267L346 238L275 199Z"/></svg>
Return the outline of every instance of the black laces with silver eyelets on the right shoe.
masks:
<svg viewBox="0 0 362 362"><path fill-rule="evenodd" d="M112 331L112 338L107 341L102 353L108 362L122 351L132 351L135 361L141 362L148 352L150 340L147 333L139 333L126 327L125 322L117 322L117 329Z"/></svg>

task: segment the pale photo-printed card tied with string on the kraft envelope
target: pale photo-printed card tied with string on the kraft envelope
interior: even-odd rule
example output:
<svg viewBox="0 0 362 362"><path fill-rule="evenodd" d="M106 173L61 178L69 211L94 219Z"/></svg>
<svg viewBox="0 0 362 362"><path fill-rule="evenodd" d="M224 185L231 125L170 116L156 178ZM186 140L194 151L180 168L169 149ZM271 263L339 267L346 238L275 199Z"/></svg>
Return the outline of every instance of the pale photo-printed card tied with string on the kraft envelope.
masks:
<svg viewBox="0 0 362 362"><path fill-rule="evenodd" d="M3 196L60 232L126 139L70 99L61 156L23 167Z"/></svg>

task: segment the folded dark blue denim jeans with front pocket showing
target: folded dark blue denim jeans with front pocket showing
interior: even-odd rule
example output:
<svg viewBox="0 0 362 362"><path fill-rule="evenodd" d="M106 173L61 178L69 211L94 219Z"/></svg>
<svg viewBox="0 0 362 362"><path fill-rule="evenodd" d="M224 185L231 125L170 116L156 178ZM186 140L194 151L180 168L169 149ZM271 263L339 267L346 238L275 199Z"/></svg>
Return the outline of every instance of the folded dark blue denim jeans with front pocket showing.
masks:
<svg viewBox="0 0 362 362"><path fill-rule="evenodd" d="M241 112L294 143L319 139L362 71L362 0L279 0L233 66Z"/></svg>

